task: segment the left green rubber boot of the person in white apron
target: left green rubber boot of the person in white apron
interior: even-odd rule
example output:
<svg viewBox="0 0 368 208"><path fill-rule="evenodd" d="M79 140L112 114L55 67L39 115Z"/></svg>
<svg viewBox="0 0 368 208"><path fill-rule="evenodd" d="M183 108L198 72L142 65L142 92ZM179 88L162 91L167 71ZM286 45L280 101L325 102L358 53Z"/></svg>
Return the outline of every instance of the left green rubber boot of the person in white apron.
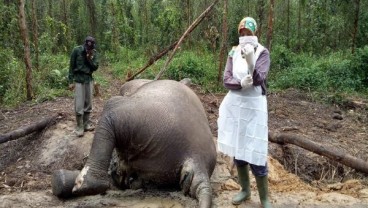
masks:
<svg viewBox="0 0 368 208"><path fill-rule="evenodd" d="M233 205L239 205L243 201L250 199L250 181L249 181L249 166L237 166L238 170L238 180L242 187L241 191L235 195L232 199Z"/></svg>

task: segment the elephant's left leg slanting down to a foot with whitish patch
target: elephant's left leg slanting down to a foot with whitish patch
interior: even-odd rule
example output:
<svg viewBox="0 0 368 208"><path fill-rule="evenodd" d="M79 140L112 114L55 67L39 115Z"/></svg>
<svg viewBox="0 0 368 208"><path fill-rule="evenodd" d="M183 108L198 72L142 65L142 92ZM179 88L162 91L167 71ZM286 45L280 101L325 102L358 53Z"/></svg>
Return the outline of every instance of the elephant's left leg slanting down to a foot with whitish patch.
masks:
<svg viewBox="0 0 368 208"><path fill-rule="evenodd" d="M112 128L108 120L106 117L103 118L96 129L86 165L75 180L73 188L75 195L100 194L110 186L108 168L115 147L115 138L109 131Z"/></svg>

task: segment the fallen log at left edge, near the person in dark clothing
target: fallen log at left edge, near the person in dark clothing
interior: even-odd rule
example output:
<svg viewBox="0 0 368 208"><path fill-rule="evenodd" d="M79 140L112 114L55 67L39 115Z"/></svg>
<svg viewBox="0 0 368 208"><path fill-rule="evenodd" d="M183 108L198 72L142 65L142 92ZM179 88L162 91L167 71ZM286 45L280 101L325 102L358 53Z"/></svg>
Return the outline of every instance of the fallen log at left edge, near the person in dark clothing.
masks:
<svg viewBox="0 0 368 208"><path fill-rule="evenodd" d="M44 118L36 123L27 125L27 126L22 126L19 129L16 129L14 131L11 131L9 133L6 134L1 134L0 135L0 144L11 141L11 140L15 140L18 139L20 137L24 137L30 133L36 132L36 131L41 131L44 128L53 125L55 123L55 121L60 118L61 115L60 114L56 114L47 118Z"/></svg>

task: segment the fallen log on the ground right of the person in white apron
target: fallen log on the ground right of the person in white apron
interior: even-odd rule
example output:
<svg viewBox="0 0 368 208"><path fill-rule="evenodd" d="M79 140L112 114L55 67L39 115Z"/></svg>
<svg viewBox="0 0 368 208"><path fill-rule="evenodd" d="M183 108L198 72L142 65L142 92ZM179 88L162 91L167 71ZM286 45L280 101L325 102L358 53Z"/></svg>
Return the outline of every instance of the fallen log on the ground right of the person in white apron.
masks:
<svg viewBox="0 0 368 208"><path fill-rule="evenodd" d="M368 163L366 161L347 154L341 149L334 150L330 147L309 141L307 138L299 135L269 133L268 140L282 145L285 143L294 144L298 147L337 161L362 173L368 173Z"/></svg>

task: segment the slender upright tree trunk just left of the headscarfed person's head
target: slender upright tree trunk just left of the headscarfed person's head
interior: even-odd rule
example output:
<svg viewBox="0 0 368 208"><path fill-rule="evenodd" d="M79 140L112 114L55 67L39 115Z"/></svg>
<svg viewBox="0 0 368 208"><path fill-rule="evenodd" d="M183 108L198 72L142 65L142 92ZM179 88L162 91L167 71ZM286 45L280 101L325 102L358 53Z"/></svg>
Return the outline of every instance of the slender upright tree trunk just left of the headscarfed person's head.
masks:
<svg viewBox="0 0 368 208"><path fill-rule="evenodd" d="M220 85L222 80L222 71L224 70L224 61L225 61L225 53L226 53L226 43L227 43L227 8L228 3L227 0L224 0L224 13L222 16L222 40L221 40L221 49L220 49L220 63L219 70L217 76L217 83Z"/></svg>

